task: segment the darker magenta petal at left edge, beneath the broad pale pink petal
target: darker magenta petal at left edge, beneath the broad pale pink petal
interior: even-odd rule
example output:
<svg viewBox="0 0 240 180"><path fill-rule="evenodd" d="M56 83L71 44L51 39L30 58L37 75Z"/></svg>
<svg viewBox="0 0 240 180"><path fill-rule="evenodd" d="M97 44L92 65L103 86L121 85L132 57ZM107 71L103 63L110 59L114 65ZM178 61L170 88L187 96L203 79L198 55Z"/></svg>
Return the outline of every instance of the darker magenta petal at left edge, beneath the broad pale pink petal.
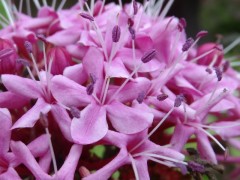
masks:
<svg viewBox="0 0 240 180"><path fill-rule="evenodd" d="M15 109L25 106L29 102L29 98L20 96L10 91L0 93L0 107Z"/></svg>

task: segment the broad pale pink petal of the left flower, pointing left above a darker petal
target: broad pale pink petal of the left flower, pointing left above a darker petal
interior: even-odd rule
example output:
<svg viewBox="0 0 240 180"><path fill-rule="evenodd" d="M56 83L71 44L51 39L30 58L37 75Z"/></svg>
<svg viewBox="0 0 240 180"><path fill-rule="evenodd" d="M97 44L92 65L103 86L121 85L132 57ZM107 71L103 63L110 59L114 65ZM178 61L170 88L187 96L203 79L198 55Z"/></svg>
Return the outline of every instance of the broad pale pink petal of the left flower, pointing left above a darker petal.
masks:
<svg viewBox="0 0 240 180"><path fill-rule="evenodd" d="M42 96L39 82L16 75L2 75L4 86L11 92L29 97L38 98Z"/></svg>

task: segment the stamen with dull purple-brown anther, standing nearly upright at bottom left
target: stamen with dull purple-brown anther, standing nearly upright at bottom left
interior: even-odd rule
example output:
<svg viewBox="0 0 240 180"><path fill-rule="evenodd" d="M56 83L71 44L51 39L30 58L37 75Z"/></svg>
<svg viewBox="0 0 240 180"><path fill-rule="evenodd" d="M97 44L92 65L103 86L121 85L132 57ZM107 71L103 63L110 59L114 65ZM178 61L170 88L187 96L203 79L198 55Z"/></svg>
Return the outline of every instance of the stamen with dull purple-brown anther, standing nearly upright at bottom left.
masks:
<svg viewBox="0 0 240 180"><path fill-rule="evenodd" d="M40 119L41 119L41 122L43 122L45 132L48 136L48 143L49 143L50 152L51 152L51 156L52 156L53 169L54 169L54 173L56 175L57 174L57 162L56 162L56 157L55 157L55 153L54 153L54 150L53 150L51 135L50 135L49 130L48 130L48 119L47 119L47 116L43 113L40 114Z"/></svg>

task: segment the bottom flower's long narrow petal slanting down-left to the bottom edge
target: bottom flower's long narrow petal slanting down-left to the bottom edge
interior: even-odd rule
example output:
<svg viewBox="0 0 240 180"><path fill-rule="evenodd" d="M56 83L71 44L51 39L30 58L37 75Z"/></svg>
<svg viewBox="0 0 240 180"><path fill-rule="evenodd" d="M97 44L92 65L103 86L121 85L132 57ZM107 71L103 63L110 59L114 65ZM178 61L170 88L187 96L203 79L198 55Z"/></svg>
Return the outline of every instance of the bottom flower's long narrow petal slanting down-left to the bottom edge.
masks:
<svg viewBox="0 0 240 180"><path fill-rule="evenodd" d="M121 149L118 155L110 163L97 170L95 173L83 178L83 180L109 179L119 167L129 163L128 152L125 149Z"/></svg>

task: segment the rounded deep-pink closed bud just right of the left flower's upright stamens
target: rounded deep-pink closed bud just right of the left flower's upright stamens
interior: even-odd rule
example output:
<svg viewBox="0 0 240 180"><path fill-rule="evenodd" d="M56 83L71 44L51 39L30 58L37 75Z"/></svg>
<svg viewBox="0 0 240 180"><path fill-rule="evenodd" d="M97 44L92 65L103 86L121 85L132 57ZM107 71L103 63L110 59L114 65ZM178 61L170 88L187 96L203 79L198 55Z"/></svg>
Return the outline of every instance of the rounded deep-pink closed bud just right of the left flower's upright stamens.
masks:
<svg viewBox="0 0 240 180"><path fill-rule="evenodd" d="M51 73L53 75L62 74L65 67L71 65L71 56L62 47L54 47L47 53L48 63L53 58Z"/></svg>

